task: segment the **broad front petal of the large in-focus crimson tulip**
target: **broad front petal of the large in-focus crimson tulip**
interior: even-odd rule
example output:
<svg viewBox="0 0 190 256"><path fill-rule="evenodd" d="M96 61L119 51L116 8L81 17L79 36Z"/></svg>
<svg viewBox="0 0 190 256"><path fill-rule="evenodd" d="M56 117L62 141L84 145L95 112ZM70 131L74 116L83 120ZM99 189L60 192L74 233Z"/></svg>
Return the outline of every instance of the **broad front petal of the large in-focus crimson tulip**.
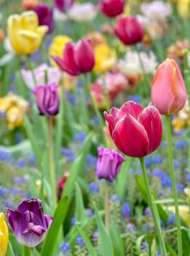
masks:
<svg viewBox="0 0 190 256"><path fill-rule="evenodd" d="M128 113L116 123L112 138L116 147L129 157L144 157L149 153L146 130Z"/></svg>

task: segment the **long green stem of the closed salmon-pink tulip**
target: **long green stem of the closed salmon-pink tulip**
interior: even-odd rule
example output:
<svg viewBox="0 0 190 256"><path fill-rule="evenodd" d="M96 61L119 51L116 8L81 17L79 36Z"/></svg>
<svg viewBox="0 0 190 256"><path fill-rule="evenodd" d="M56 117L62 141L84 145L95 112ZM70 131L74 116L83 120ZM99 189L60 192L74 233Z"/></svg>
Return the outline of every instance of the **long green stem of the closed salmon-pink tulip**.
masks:
<svg viewBox="0 0 190 256"><path fill-rule="evenodd" d="M167 121L168 155L169 155L169 161L170 161L170 176L172 179L172 186L173 186L175 218L176 218L177 235L178 235L178 256L182 256L183 247L182 247L182 240L181 240L181 219L180 219L180 214L178 209L178 192L176 189L175 172L174 172L174 166L173 166L173 148L172 148L172 132L171 132L170 116L166 116L166 121Z"/></svg>

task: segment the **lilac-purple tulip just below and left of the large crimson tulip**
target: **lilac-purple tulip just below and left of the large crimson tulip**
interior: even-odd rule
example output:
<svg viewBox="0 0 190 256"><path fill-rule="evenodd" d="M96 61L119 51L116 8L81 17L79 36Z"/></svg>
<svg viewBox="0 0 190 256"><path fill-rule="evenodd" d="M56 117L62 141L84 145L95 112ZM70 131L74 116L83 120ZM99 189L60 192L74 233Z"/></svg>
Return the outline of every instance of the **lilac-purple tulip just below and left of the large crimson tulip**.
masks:
<svg viewBox="0 0 190 256"><path fill-rule="evenodd" d="M124 157L114 149L98 147L96 175L98 178L114 181L124 160Z"/></svg>

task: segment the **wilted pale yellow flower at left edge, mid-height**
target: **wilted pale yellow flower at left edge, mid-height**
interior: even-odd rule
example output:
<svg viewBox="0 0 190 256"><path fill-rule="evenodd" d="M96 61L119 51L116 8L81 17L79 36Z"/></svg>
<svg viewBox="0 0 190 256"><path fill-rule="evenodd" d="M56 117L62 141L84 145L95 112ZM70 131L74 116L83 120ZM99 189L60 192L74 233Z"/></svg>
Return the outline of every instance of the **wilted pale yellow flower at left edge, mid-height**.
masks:
<svg viewBox="0 0 190 256"><path fill-rule="evenodd" d="M0 112L6 114L9 129L20 127L23 124L23 115L28 110L28 102L15 94L8 94L0 98Z"/></svg>

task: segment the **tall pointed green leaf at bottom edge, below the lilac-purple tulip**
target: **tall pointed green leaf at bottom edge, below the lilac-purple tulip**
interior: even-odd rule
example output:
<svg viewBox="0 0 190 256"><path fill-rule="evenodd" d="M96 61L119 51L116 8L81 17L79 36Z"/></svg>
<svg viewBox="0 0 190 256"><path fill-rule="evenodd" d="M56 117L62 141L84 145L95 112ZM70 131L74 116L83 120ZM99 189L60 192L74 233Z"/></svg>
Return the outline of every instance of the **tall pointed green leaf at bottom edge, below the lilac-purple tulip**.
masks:
<svg viewBox="0 0 190 256"><path fill-rule="evenodd" d="M100 232L99 239L98 239L98 245L100 246L100 255L101 256L114 256L114 248L113 244L111 243L111 238L108 235L108 231L106 230L106 227L103 225L103 221L100 218L100 214L98 212L98 208L95 206L95 219L98 225L98 230Z"/></svg>

